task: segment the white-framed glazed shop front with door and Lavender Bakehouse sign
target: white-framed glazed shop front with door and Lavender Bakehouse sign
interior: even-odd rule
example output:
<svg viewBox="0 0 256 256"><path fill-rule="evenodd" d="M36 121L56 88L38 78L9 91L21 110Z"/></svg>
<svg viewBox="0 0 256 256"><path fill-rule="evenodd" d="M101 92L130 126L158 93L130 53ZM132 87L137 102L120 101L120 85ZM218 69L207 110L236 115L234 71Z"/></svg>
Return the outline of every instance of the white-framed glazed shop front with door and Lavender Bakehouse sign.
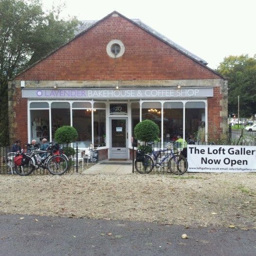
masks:
<svg viewBox="0 0 256 256"><path fill-rule="evenodd" d="M28 141L54 140L55 130L71 125L78 132L75 144L93 144L108 158L128 159L134 127L144 119L160 129L160 141L199 134L207 141L207 99L213 88L147 89L23 89L27 99ZM100 153L101 155L101 153Z"/></svg>

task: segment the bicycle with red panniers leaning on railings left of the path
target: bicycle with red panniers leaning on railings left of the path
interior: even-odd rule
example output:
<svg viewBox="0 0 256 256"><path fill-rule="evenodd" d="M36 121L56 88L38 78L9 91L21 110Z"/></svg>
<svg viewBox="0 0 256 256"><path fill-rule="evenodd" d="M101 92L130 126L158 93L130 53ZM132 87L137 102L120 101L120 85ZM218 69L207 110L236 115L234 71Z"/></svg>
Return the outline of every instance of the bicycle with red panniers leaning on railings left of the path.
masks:
<svg viewBox="0 0 256 256"><path fill-rule="evenodd" d="M53 142L50 143L47 150L40 150L38 145L32 147L31 144L27 144L27 148L30 149L30 153L18 153L23 155L22 165L15 166L18 175L27 176L39 168L47 169L53 175L61 175L67 171L68 158L57 152L58 149ZM40 154L45 154L45 156L40 157Z"/></svg>

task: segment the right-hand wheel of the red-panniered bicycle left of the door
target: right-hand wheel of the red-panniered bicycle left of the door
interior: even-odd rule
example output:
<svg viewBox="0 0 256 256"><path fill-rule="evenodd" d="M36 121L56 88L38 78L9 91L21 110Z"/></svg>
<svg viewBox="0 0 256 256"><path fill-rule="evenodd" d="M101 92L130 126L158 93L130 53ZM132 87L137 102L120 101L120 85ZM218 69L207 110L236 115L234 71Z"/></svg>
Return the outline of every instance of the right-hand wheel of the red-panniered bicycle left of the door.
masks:
<svg viewBox="0 0 256 256"><path fill-rule="evenodd" d="M51 156L47 162L47 169L51 174L61 175L68 169L68 162L62 155Z"/></svg>

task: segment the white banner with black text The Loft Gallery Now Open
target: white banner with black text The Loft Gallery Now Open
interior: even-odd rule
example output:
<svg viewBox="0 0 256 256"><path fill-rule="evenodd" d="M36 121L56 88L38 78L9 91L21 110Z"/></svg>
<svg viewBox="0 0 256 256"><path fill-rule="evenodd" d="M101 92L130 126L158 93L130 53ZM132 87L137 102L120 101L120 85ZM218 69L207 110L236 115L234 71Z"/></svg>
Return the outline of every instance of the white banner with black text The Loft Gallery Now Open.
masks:
<svg viewBox="0 0 256 256"><path fill-rule="evenodd" d="M188 172L256 172L256 146L188 145Z"/></svg>

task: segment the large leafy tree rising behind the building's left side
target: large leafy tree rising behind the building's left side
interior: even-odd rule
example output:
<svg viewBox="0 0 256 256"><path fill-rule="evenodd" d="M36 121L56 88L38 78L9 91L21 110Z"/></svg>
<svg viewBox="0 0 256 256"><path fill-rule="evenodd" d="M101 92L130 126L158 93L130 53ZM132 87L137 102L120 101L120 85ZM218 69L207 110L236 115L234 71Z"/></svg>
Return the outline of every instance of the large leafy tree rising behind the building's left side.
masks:
<svg viewBox="0 0 256 256"><path fill-rule="evenodd" d="M78 21L60 19L61 11L44 12L41 0L0 0L0 144L9 142L8 80L74 37Z"/></svg>

